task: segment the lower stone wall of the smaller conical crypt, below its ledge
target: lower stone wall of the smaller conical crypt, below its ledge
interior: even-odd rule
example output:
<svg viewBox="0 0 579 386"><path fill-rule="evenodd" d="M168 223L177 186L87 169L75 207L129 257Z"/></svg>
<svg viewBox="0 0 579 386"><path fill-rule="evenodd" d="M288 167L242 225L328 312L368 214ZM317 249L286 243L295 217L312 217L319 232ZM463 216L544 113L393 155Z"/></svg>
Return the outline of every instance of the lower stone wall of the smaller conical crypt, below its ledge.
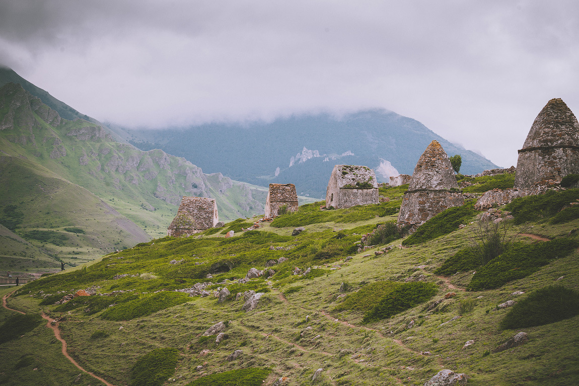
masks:
<svg viewBox="0 0 579 386"><path fill-rule="evenodd" d="M404 194L397 223L413 230L445 209L463 204L461 193L451 193L448 190L409 192Z"/></svg>

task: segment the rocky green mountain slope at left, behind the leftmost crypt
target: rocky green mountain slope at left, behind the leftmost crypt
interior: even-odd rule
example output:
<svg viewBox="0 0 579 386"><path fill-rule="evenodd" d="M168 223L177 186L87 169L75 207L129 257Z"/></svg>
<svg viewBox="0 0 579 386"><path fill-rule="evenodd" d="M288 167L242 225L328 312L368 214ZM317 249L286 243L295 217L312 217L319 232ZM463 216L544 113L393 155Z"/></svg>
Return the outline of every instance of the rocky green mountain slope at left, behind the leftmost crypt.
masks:
<svg viewBox="0 0 579 386"><path fill-rule="evenodd" d="M99 123L63 119L14 83L0 89L0 156L0 223L46 242L56 258L78 258L71 253L79 249L94 258L162 237L182 196L216 198L225 220L259 214L265 203L263 189L120 143ZM2 217L10 205L23 218ZM85 233L62 233L64 227ZM61 234L36 240L32 230Z"/></svg>

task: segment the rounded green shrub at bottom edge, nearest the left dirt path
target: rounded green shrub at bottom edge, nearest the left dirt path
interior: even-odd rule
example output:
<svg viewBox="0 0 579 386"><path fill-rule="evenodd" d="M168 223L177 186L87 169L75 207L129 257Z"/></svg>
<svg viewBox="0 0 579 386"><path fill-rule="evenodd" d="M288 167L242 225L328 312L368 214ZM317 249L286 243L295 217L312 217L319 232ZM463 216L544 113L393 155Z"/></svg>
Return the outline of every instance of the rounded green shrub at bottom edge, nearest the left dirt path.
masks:
<svg viewBox="0 0 579 386"><path fill-rule="evenodd" d="M175 373L176 348L157 348L141 356L131 369L131 386L160 386Z"/></svg>

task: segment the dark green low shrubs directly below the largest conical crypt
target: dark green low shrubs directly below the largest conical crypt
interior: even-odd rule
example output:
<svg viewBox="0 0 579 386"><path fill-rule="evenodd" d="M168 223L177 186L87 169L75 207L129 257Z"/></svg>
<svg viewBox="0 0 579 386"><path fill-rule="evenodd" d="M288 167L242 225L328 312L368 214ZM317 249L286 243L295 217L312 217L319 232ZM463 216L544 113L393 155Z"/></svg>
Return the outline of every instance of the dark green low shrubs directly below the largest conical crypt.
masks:
<svg viewBox="0 0 579 386"><path fill-rule="evenodd" d="M512 203L505 205L505 209L512 212L515 224L521 224L541 218L551 218L569 203L576 202L578 198L579 189L560 192L549 190L545 194L516 198Z"/></svg>

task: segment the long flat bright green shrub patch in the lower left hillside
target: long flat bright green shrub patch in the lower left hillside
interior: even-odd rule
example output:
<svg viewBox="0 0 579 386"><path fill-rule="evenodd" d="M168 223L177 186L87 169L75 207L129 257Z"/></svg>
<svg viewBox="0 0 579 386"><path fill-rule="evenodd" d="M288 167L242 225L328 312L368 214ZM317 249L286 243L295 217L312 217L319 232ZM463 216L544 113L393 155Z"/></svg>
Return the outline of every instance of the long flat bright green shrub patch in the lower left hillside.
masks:
<svg viewBox="0 0 579 386"><path fill-rule="evenodd" d="M189 295L182 292L145 293L130 302L107 308L101 314L101 318L112 321L126 321L151 315L157 311L164 310L164 308L189 302L189 300Z"/></svg>

